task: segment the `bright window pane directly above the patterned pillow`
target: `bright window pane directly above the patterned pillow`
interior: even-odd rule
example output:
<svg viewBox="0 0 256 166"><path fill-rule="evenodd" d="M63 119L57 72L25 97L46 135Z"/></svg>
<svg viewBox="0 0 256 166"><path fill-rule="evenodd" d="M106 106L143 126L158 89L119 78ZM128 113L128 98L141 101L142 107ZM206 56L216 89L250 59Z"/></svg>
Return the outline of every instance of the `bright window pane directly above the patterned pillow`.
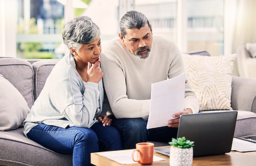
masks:
<svg viewBox="0 0 256 166"><path fill-rule="evenodd" d="M224 0L187 0L187 50L224 54Z"/></svg>

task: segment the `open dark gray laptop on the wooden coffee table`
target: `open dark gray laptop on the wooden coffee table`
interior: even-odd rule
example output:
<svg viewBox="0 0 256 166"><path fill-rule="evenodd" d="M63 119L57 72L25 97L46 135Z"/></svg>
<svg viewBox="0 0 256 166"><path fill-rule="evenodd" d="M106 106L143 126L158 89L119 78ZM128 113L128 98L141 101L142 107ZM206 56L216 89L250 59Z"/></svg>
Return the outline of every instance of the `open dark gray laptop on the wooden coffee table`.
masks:
<svg viewBox="0 0 256 166"><path fill-rule="evenodd" d="M177 138L194 141L193 157L225 154L231 151L237 111L206 111L180 116ZM170 147L154 149L170 156Z"/></svg>

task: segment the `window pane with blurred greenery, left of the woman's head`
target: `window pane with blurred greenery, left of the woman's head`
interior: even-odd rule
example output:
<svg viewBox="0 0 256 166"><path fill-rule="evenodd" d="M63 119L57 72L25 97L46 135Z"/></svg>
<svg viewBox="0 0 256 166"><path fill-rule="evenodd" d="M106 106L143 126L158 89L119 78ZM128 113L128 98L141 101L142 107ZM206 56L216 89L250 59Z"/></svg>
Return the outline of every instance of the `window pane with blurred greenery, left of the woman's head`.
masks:
<svg viewBox="0 0 256 166"><path fill-rule="evenodd" d="M18 0L17 57L61 58L64 6L56 0Z"/></svg>

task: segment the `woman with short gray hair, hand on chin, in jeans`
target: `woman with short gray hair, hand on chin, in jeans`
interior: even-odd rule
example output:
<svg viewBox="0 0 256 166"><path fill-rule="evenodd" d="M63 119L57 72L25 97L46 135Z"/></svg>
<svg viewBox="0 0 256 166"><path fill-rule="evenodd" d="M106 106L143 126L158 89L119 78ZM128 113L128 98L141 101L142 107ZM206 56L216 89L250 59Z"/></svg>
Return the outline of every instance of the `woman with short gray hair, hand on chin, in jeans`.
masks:
<svg viewBox="0 0 256 166"><path fill-rule="evenodd" d="M73 165L90 165L90 153L122 149L120 133L103 107L99 28L88 17L76 17L65 24L63 42L70 55L51 71L24 121L24 134L71 154Z"/></svg>

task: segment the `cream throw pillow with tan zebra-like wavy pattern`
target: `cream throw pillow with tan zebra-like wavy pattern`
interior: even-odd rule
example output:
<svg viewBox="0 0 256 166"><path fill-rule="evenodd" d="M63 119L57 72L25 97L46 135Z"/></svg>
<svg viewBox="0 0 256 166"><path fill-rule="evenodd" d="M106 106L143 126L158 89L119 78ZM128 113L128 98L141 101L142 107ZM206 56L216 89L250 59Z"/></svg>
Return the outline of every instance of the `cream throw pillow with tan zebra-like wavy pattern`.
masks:
<svg viewBox="0 0 256 166"><path fill-rule="evenodd" d="M191 87L198 97L199 110L232 110L231 74L237 55L182 56Z"/></svg>

